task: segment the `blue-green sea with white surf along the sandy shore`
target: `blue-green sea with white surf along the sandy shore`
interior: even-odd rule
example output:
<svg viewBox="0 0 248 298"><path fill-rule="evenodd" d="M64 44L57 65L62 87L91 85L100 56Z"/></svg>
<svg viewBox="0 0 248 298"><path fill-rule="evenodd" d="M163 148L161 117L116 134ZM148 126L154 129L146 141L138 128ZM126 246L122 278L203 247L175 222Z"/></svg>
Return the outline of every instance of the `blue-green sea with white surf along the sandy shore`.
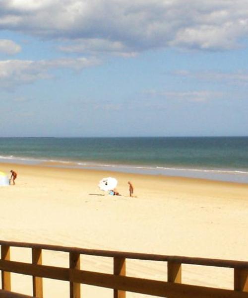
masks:
<svg viewBox="0 0 248 298"><path fill-rule="evenodd" d="M248 137L0 138L0 162L248 183Z"/></svg>

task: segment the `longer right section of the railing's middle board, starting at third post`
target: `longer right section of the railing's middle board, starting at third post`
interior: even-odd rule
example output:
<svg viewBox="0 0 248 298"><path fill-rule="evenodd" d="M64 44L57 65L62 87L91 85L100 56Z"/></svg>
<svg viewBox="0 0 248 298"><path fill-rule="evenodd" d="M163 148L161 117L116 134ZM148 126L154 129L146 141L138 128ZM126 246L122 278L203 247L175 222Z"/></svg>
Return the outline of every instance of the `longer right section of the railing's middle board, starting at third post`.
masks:
<svg viewBox="0 0 248 298"><path fill-rule="evenodd" d="M84 270L71 272L73 281L127 292L167 298L248 298L248 293L153 281Z"/></svg>

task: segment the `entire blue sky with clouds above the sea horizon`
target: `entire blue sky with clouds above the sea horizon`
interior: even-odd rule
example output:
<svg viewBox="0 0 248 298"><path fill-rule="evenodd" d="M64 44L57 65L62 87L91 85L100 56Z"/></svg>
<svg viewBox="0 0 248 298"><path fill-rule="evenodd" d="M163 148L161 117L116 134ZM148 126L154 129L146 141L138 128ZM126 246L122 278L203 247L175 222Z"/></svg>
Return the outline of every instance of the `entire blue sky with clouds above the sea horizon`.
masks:
<svg viewBox="0 0 248 298"><path fill-rule="evenodd" d="M247 0L0 0L0 137L247 128Z"/></svg>

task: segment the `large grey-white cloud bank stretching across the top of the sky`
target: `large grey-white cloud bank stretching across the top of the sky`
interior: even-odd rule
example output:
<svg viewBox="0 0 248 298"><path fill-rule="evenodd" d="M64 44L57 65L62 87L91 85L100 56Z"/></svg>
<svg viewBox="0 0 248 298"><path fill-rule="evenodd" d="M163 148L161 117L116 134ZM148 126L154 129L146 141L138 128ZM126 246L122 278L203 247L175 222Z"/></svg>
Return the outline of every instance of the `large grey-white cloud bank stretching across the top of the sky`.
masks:
<svg viewBox="0 0 248 298"><path fill-rule="evenodd" d="M248 36L248 1L2 0L1 29L70 41L67 52L228 50Z"/></svg>

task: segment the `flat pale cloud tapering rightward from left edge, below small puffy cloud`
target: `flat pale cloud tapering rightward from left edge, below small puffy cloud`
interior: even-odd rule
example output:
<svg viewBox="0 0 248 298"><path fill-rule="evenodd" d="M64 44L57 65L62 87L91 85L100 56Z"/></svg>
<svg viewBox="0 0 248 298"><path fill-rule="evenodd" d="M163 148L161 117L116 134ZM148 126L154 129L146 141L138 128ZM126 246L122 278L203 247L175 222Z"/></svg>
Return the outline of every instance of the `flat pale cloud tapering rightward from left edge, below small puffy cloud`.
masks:
<svg viewBox="0 0 248 298"><path fill-rule="evenodd" d="M0 61L0 85L31 83L39 79L52 77L51 70L67 68L80 71L84 68L96 66L100 63L95 58L57 59L57 60L5 60Z"/></svg>

